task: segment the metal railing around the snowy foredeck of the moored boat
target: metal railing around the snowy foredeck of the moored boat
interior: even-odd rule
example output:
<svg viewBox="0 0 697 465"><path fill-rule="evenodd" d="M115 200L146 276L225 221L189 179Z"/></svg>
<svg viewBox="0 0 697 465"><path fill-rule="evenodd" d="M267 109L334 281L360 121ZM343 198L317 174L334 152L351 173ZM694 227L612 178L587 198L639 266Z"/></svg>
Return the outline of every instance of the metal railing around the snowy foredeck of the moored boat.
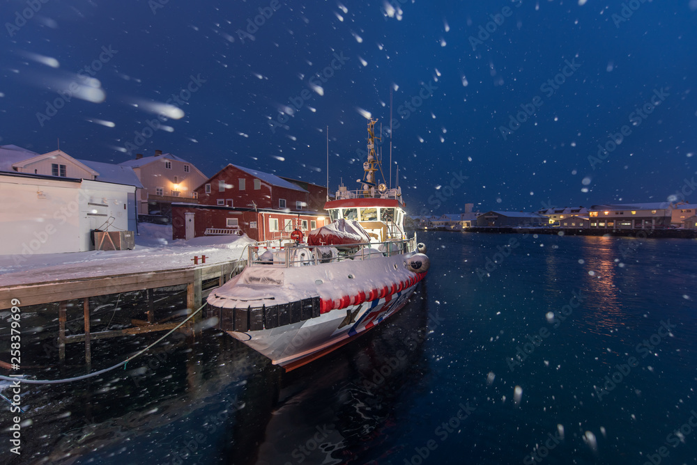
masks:
<svg viewBox="0 0 697 465"><path fill-rule="evenodd" d="M346 260L369 260L416 251L416 235L410 239L360 244L308 246L279 240L257 242L247 248L250 267L304 267Z"/></svg>

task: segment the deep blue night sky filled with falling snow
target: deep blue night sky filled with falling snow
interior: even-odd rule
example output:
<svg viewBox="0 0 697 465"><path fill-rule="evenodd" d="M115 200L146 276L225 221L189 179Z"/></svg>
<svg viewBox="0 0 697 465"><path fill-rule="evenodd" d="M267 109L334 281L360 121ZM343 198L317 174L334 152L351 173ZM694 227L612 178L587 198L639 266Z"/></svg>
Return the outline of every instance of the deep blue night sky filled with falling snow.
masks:
<svg viewBox="0 0 697 465"><path fill-rule="evenodd" d="M211 3L3 1L0 144L355 189L392 89L410 214L697 202L697 0Z"/></svg>

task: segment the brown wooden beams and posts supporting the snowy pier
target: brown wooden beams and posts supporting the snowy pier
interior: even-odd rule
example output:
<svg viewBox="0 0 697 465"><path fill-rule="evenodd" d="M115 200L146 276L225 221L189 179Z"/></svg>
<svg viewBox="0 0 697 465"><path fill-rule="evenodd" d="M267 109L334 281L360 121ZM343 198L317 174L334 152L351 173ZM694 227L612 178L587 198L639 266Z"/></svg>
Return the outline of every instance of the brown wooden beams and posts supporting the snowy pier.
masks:
<svg viewBox="0 0 697 465"><path fill-rule="evenodd" d="M187 286L186 304L189 312L201 306L203 299L208 297L211 289L203 290L203 283L217 279L217 285L223 285L230 278L244 269L246 260L217 263L215 265L199 265L178 269L163 269L143 273L126 273L111 276L95 276L70 278L59 281L10 285L0 288L0 310L12 307L12 300L21 302L21 307L59 303L59 358L65 361L66 344L71 342L85 343L85 359L91 364L91 341L102 338L114 338L132 334L150 333L173 329L178 322L155 322L153 290L158 287L175 285ZM215 286L217 287L217 286ZM111 331L90 331L90 297L120 294L123 292L146 291L147 321L133 321L135 326ZM84 334L66 336L66 313L68 301L82 299L84 308ZM195 319L194 319L195 320ZM193 320L192 320L193 321Z"/></svg>

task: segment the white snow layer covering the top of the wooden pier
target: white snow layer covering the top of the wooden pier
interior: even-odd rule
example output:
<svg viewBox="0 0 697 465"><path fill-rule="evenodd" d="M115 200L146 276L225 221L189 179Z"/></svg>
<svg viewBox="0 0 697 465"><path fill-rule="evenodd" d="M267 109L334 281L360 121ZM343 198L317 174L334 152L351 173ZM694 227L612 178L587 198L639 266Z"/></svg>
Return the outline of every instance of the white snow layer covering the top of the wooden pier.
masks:
<svg viewBox="0 0 697 465"><path fill-rule="evenodd" d="M0 285L22 285L93 278L114 274L144 273L163 269L194 267L192 258L206 255L206 265L246 259L245 246L253 241L243 236L197 237L190 241L171 239L171 226L140 223L132 251L89 251L0 255Z"/></svg>

